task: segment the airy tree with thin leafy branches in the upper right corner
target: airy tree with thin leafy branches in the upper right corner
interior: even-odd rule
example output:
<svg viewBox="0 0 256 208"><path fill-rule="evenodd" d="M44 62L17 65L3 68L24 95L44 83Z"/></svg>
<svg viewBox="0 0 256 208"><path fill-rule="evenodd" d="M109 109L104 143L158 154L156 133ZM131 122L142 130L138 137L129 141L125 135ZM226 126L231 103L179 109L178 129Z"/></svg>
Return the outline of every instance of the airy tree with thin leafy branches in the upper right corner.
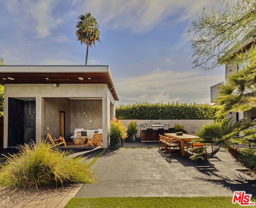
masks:
<svg viewBox="0 0 256 208"><path fill-rule="evenodd" d="M256 1L216 2L221 4L220 8L213 8L210 12L204 9L188 30L194 50L194 67L204 70L212 70L230 60L237 64L256 57L255 47L248 51L242 48L256 38Z"/></svg>

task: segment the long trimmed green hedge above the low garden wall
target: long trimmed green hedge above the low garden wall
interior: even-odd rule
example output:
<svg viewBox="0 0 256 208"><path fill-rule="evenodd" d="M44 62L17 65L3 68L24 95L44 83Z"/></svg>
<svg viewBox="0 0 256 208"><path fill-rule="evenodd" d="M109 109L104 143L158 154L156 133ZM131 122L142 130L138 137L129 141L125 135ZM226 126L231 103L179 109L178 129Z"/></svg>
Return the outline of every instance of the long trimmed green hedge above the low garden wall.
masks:
<svg viewBox="0 0 256 208"><path fill-rule="evenodd" d="M209 104L182 103L136 103L116 107L116 118L129 119L154 119L154 120L203 120L215 119L215 113L220 108Z"/></svg>

